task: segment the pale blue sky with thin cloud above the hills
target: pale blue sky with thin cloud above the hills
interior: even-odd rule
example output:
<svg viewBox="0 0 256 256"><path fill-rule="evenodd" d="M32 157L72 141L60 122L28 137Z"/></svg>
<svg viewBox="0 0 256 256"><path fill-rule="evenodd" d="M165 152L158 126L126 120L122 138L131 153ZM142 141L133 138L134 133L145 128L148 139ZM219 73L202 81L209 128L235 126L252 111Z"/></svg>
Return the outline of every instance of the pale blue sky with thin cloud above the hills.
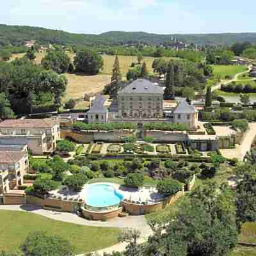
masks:
<svg viewBox="0 0 256 256"><path fill-rule="evenodd" d="M1 0L0 24L86 34L256 32L255 10L256 0Z"/></svg>

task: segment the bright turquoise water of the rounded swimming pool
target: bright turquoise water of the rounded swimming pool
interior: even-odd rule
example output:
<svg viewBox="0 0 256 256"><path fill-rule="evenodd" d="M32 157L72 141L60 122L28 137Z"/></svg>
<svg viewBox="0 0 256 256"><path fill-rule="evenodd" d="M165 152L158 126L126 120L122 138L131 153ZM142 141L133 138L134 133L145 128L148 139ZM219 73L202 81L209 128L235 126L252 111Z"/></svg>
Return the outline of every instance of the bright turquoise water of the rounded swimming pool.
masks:
<svg viewBox="0 0 256 256"><path fill-rule="evenodd" d="M108 184L91 185L86 193L86 204L94 207L117 205L122 199L123 195L116 192L116 189Z"/></svg>

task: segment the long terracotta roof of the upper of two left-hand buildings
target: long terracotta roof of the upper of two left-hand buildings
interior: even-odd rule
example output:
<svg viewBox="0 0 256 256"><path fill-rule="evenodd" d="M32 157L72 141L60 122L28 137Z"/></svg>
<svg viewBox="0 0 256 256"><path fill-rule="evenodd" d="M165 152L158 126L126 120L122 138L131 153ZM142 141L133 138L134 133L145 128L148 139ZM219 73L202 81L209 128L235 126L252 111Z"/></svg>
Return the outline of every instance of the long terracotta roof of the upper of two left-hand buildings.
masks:
<svg viewBox="0 0 256 256"><path fill-rule="evenodd" d="M0 123L0 128L51 128L58 124L58 121L51 118L45 119L8 119Z"/></svg>

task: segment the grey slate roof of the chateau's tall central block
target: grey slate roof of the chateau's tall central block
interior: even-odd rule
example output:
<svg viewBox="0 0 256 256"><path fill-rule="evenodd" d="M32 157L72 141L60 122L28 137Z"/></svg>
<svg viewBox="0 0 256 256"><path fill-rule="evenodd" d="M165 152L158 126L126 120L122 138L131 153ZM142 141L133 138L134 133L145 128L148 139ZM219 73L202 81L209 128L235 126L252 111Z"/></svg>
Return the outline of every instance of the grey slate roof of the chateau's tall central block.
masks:
<svg viewBox="0 0 256 256"><path fill-rule="evenodd" d="M163 94L163 88L158 86L147 79L137 79L131 84L125 86L124 89L120 90L120 93L161 93Z"/></svg>

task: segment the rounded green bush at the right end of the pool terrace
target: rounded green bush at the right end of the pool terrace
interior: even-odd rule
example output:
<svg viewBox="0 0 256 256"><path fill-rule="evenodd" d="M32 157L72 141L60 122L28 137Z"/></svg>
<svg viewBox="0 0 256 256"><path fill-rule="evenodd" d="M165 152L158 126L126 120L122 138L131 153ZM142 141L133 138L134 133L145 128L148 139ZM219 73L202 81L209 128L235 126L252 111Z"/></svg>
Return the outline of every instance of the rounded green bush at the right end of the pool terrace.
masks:
<svg viewBox="0 0 256 256"><path fill-rule="evenodd" d="M171 196L182 189L182 184L177 180L166 179L159 181L156 188L158 193L164 196Z"/></svg>

